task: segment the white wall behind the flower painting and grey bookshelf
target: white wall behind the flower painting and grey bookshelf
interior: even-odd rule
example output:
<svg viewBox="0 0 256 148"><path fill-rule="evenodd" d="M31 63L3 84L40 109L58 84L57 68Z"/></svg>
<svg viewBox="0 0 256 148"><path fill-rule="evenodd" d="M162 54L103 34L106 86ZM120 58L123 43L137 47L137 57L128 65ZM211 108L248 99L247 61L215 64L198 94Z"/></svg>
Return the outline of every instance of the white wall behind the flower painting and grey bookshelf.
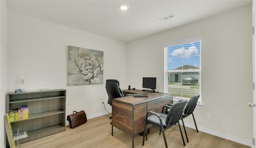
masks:
<svg viewBox="0 0 256 148"><path fill-rule="evenodd" d="M68 46L104 52L104 84L67 86ZM8 91L64 88L66 114L84 110L88 118L104 114L106 79L120 80L127 88L127 43L8 12Z"/></svg>

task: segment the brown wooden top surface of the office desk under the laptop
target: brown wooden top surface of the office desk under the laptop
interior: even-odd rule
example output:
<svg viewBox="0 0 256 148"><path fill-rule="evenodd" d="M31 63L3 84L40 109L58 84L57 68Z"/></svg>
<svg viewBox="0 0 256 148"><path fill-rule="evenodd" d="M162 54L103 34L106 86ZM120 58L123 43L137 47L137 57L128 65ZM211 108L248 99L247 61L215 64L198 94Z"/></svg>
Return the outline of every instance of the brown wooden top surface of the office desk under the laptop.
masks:
<svg viewBox="0 0 256 148"><path fill-rule="evenodd" d="M134 106L134 105L142 104L145 102L150 102L153 100L164 98L166 96L172 96L172 94L161 93L161 92L145 92L142 90L123 90L123 92L131 93L131 94L148 94L148 97L134 97L132 95L132 96L125 96L121 98L115 98L113 99L113 101L122 102L124 104L129 104Z"/></svg>

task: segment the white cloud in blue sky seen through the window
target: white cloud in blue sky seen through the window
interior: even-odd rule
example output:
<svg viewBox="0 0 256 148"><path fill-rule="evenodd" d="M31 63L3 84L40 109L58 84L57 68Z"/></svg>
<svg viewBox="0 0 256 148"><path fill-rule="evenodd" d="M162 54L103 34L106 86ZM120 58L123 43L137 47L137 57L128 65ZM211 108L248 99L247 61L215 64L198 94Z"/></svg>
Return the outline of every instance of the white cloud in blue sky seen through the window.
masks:
<svg viewBox="0 0 256 148"><path fill-rule="evenodd" d="M190 46L188 49L184 47L174 50L170 53L172 56L183 56L189 58L191 55L198 54L198 49L196 46Z"/></svg>

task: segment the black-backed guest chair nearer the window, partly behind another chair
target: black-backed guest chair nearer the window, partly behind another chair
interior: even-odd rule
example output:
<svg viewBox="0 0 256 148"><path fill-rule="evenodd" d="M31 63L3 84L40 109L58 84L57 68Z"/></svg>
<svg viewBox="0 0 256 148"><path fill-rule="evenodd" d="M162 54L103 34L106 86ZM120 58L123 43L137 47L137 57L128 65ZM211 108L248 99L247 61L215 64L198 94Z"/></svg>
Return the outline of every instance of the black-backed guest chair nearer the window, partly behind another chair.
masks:
<svg viewBox="0 0 256 148"><path fill-rule="evenodd" d="M196 120L195 120L195 117L194 117L194 110L196 108L196 104L198 102L198 99L200 98L200 95L197 95L197 96L192 96L190 98L190 100L188 101L188 104L186 105L183 113L182 113L182 116L181 116L181 120L182 120L182 124L183 124L183 128L184 128L184 131L185 131L185 135L186 135L186 138L187 138L187 142L188 142L188 134L186 132L186 128L185 128L185 124L184 124L184 121L183 119L184 118L187 118L188 116L190 116L192 114L193 116L193 119L194 119L194 123L195 123L195 126L196 126ZM168 106L172 106L172 104L168 104ZM167 109L165 110L166 114L170 111L170 109ZM162 113L164 112L164 108L162 110ZM197 126L196 126L196 132L198 132L198 129L197 129Z"/></svg>

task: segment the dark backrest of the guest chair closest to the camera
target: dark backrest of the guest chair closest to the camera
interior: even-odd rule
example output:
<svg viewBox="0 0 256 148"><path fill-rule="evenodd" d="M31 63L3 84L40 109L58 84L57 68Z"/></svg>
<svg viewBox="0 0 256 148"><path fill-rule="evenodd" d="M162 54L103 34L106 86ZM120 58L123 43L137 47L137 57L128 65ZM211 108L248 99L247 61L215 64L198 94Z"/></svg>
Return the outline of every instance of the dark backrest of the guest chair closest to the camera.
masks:
<svg viewBox="0 0 256 148"><path fill-rule="evenodd" d="M182 101L182 102L178 102L172 106L172 108L170 109L170 111L168 112L168 115L166 117L166 121L165 121L166 125L176 124L180 120L180 117L182 115L184 107L186 106L186 103L187 103L187 101Z"/></svg>

